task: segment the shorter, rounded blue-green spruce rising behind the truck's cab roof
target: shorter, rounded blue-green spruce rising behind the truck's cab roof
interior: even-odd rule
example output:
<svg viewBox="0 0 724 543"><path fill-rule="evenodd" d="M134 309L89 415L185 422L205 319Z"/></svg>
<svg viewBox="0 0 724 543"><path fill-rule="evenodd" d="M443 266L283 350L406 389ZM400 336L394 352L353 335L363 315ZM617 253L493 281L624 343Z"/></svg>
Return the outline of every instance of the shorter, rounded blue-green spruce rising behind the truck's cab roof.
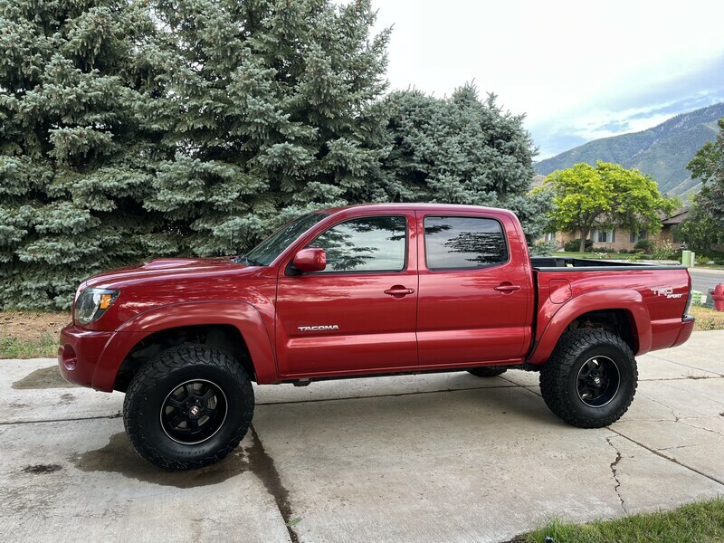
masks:
<svg viewBox="0 0 724 543"><path fill-rule="evenodd" d="M543 232L547 195L530 194L534 148L523 117L504 112L471 84L438 99L392 93L386 170L400 200L507 207L534 239ZM395 195L391 195L395 197Z"/></svg>

